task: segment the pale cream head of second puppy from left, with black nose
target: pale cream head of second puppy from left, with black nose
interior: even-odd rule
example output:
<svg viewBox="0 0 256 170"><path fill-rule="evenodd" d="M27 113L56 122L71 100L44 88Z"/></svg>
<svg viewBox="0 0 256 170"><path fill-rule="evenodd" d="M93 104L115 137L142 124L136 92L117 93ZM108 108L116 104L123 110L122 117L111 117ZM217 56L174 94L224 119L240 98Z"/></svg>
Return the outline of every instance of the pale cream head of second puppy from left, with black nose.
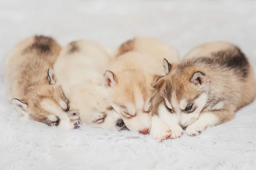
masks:
<svg viewBox="0 0 256 170"><path fill-rule="evenodd" d="M124 122L104 97L102 88L93 82L70 88L71 108L79 109L83 124L103 129L126 130Z"/></svg>

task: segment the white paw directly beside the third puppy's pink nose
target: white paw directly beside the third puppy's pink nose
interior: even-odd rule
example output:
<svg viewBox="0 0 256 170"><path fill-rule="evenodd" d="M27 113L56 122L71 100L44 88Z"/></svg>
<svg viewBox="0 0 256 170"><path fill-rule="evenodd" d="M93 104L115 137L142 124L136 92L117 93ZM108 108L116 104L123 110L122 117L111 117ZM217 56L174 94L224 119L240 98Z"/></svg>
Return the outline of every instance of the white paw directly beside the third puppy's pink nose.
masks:
<svg viewBox="0 0 256 170"><path fill-rule="evenodd" d="M152 116L151 129L149 134L157 140L164 140L171 136L171 130L168 125L158 117L158 115L154 114Z"/></svg>

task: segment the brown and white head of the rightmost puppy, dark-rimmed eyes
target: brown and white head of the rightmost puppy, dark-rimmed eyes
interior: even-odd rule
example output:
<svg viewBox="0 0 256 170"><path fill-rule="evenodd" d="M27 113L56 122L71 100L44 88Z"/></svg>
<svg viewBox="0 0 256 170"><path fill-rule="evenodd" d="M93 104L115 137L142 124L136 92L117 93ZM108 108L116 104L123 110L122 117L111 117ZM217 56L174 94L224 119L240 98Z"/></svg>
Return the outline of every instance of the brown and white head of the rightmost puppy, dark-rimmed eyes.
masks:
<svg viewBox="0 0 256 170"><path fill-rule="evenodd" d="M183 62L186 62L183 61ZM208 100L207 76L195 66L180 68L163 61L165 81L160 95L170 114L177 114L180 126L187 127L198 119Z"/></svg>

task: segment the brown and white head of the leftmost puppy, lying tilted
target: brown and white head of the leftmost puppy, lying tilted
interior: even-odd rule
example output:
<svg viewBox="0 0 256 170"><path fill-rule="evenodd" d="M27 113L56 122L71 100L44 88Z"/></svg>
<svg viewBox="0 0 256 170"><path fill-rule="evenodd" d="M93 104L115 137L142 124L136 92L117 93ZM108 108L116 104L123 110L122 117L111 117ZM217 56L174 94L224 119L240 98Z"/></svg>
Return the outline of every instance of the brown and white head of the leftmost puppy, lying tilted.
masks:
<svg viewBox="0 0 256 170"><path fill-rule="evenodd" d="M29 118L62 129L79 128L79 111L70 111L69 100L61 86L54 85L55 80L51 73L48 71L48 85L26 89L24 99L12 99L12 106L21 113L23 119Z"/></svg>

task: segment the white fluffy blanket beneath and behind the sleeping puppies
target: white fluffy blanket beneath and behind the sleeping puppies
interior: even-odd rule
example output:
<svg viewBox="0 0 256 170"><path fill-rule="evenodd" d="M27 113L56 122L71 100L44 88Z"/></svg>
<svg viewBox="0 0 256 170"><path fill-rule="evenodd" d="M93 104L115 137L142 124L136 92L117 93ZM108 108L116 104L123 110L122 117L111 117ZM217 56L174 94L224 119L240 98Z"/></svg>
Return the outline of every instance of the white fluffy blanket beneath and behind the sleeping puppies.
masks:
<svg viewBox="0 0 256 170"><path fill-rule="evenodd" d="M227 40L256 64L253 1L1 0L0 23L1 59L32 34L52 35L62 45L86 38L112 46L142 35L170 42L181 55L203 42ZM20 122L6 102L3 81L2 69L0 170L256 169L256 102L200 136L160 143L132 132L60 131Z"/></svg>

